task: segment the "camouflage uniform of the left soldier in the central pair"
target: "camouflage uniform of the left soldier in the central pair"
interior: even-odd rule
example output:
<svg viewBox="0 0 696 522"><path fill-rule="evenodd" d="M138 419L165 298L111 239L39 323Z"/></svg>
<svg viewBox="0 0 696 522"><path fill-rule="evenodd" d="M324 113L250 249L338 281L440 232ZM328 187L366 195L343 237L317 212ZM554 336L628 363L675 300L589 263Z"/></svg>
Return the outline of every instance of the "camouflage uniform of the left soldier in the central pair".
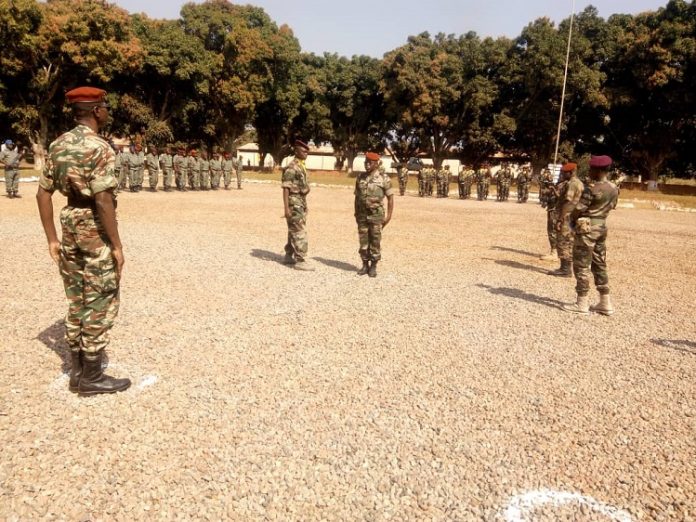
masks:
<svg viewBox="0 0 696 522"><path fill-rule="evenodd" d="M307 241L307 194L309 194L309 182L307 180L307 168L304 161L297 158L285 167L283 171L283 189L289 191L290 218L288 224L288 241L285 244L285 255L294 257L301 263L307 257L309 248Z"/></svg>

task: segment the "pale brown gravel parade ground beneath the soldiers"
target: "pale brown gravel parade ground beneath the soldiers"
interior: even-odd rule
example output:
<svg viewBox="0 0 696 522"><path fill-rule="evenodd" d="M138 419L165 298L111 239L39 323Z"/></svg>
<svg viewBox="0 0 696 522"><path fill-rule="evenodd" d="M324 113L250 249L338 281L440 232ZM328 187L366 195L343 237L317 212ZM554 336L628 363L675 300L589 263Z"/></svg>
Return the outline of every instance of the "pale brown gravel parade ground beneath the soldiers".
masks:
<svg viewBox="0 0 696 522"><path fill-rule="evenodd" d="M585 317L537 203L396 196L373 279L345 187L314 272L277 183L123 193L133 386L78 398L35 192L0 197L2 520L696 520L694 213L614 211Z"/></svg>

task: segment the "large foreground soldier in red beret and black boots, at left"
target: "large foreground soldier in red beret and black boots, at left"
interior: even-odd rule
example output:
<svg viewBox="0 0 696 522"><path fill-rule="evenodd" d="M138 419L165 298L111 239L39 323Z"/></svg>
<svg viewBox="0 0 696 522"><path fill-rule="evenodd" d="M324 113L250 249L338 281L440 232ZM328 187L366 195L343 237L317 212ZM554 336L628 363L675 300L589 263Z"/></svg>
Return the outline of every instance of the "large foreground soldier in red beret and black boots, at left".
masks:
<svg viewBox="0 0 696 522"><path fill-rule="evenodd" d="M66 93L77 126L51 143L36 194L48 251L60 268L69 301L69 389L83 396L119 392L131 384L102 371L109 330L118 315L124 264L116 222L114 152L97 134L109 118L105 95L94 87ZM62 241L53 222L56 190L68 198L60 212Z"/></svg>

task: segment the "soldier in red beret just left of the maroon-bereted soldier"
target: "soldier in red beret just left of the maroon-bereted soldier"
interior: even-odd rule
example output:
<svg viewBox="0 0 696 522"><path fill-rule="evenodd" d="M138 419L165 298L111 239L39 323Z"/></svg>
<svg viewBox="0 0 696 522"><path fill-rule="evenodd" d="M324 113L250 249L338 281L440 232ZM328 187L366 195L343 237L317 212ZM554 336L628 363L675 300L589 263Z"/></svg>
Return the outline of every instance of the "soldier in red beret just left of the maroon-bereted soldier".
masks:
<svg viewBox="0 0 696 522"><path fill-rule="evenodd" d="M549 272L549 275L572 277L573 267L573 231L570 229L570 214L580 201L585 186L577 176L576 163L566 163L561 168L562 181L558 186L556 202L556 249L561 266Z"/></svg>

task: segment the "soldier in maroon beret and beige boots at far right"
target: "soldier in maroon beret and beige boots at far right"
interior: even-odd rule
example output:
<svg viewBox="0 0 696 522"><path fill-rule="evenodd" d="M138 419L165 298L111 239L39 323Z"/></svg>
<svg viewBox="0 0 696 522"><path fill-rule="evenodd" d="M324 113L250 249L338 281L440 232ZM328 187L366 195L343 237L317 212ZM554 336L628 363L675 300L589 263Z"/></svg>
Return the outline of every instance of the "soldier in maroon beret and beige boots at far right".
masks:
<svg viewBox="0 0 696 522"><path fill-rule="evenodd" d="M607 274L607 216L616 208L619 191L608 181L609 156L590 158L590 181L580 202L571 214L575 229L573 242L573 271L575 272L577 301L564 305L568 312L589 313L590 272L599 291L599 303L592 309L602 315L612 315L614 307L609 297L609 275Z"/></svg>

